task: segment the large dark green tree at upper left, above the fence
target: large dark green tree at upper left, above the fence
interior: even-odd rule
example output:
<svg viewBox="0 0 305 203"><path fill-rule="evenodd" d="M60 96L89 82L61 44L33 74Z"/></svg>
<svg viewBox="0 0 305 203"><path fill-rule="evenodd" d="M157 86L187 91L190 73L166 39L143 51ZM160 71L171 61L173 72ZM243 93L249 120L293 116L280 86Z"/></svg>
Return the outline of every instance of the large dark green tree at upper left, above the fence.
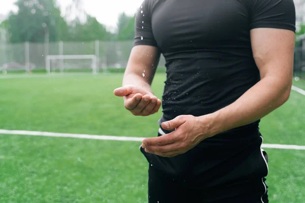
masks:
<svg viewBox="0 0 305 203"><path fill-rule="evenodd" d="M8 18L10 42L58 41L67 35L67 23L55 0L18 0L18 12Z"/></svg>

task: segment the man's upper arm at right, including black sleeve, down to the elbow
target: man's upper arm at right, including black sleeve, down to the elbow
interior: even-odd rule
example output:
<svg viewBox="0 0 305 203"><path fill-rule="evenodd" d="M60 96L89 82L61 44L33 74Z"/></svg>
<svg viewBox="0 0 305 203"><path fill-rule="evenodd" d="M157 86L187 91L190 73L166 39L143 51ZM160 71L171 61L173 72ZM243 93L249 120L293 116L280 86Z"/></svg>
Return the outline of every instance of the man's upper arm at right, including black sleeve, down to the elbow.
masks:
<svg viewBox="0 0 305 203"><path fill-rule="evenodd" d="M253 57L261 78L276 76L290 82L295 44L293 0L252 0L249 12Z"/></svg>

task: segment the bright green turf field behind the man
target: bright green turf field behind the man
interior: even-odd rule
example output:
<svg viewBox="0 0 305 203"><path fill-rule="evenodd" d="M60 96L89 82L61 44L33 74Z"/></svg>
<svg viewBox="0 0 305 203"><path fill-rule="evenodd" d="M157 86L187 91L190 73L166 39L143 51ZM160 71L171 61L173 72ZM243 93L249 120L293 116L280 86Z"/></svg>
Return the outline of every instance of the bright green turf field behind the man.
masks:
<svg viewBox="0 0 305 203"><path fill-rule="evenodd" d="M0 75L0 129L155 137L161 112L135 117L113 96L122 74ZM165 75L153 89L161 97ZM304 81L294 83L305 88ZM265 144L305 145L305 96L262 119ZM147 202L138 142L0 134L0 202ZM266 149L270 202L305 202L305 151Z"/></svg>

